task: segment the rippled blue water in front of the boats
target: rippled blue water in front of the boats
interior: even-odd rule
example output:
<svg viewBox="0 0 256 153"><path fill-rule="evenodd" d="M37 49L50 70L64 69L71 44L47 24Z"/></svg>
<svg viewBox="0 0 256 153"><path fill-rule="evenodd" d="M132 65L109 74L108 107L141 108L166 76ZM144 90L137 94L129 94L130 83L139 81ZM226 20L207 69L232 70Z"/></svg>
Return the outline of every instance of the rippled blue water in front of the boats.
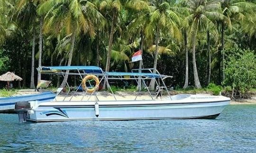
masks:
<svg viewBox="0 0 256 153"><path fill-rule="evenodd" d="M0 114L0 152L255 152L256 105L228 106L217 119L19 124Z"/></svg>

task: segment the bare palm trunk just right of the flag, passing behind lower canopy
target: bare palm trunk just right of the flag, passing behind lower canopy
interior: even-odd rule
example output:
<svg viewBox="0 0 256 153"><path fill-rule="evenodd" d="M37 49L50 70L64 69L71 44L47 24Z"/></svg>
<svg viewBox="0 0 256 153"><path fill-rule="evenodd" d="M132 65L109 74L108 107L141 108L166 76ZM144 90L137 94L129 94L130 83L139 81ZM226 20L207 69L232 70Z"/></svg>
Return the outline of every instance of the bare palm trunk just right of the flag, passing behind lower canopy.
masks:
<svg viewBox="0 0 256 153"><path fill-rule="evenodd" d="M157 26L157 28L156 28L156 38L155 38L155 57L154 57L155 59L154 59L153 73L155 73L155 69L157 67L159 33L160 33L160 29L159 29L159 26ZM150 90L155 90L155 79L151 79L149 89Z"/></svg>

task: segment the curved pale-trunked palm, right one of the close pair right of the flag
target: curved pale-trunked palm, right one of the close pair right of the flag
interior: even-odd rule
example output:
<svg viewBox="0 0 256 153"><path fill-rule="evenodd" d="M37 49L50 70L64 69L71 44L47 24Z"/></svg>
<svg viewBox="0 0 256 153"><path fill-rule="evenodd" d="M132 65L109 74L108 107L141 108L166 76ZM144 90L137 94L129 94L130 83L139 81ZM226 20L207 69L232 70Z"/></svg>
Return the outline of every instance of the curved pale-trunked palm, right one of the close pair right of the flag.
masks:
<svg viewBox="0 0 256 153"><path fill-rule="evenodd" d="M223 18L223 16L216 10L220 7L218 3L206 3L205 0L187 0L186 6L190 10L190 15L187 20L190 23L190 37L192 46L192 63L193 63L193 75L196 88L201 88L201 83L198 77L196 66L196 42L197 33L199 30L204 29L211 30L214 37L218 36L218 31L215 24L211 19Z"/></svg>

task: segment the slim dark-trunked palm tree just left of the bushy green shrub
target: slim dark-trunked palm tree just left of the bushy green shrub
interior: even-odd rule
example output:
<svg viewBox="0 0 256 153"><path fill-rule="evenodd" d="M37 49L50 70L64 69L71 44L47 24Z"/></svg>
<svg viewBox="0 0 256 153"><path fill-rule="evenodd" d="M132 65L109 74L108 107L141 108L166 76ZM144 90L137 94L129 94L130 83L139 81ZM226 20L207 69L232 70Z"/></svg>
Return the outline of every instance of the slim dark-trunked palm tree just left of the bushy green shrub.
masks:
<svg viewBox="0 0 256 153"><path fill-rule="evenodd" d="M224 35L225 29L228 27L229 29L232 28L233 20L243 20L245 17L245 12L252 11L253 5L250 2L245 0L219 0L221 3L222 14L225 16L221 21L221 48L219 51L219 57L221 57L222 61L222 68L220 67L219 61L219 71L221 72L222 69L222 80L225 79L225 54L224 54ZM220 73L219 73L220 74Z"/></svg>

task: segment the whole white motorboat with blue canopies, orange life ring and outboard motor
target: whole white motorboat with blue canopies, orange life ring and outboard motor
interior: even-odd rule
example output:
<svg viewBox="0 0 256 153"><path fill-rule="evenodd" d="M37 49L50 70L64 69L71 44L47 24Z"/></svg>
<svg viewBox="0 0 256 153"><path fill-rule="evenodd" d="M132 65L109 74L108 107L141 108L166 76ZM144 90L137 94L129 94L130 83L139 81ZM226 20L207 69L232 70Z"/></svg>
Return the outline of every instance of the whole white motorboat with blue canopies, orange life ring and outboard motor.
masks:
<svg viewBox="0 0 256 153"><path fill-rule="evenodd" d="M105 73L99 67L40 67L38 70L44 74L64 75L65 70L76 71L70 72L69 75L82 76L97 76L100 81L96 80L96 86L92 89L86 87L86 82L83 85L83 95L88 98L79 101L72 100L76 92L73 92L69 100L51 101L51 102L29 102L26 107L19 107L22 111L20 115L21 122L26 119L35 122L47 121L71 121L71 120L131 120L131 119L215 119L224 110L225 106L229 105L230 99L224 96L202 95L202 94L177 94L171 96L165 85L165 78L171 76L160 75L154 69L142 69L149 71L143 73L138 69L133 69L131 73L109 72ZM127 77L129 76L129 77ZM94 78L95 79L95 78ZM165 92L168 97L157 98L152 95L148 88L148 93L151 97L149 100L118 100L112 92L108 80L110 79L134 79L137 82L141 81L146 86L146 79L155 79L158 92ZM101 101L97 97L97 90L102 82L109 86L114 97L111 101ZM68 84L67 84L68 85ZM141 88L137 92L139 94ZM95 97L95 98L91 98ZM93 99L93 100L91 100ZM19 111L19 110L18 110ZM21 111L19 111L21 112ZM24 117L21 118L21 117Z"/></svg>

